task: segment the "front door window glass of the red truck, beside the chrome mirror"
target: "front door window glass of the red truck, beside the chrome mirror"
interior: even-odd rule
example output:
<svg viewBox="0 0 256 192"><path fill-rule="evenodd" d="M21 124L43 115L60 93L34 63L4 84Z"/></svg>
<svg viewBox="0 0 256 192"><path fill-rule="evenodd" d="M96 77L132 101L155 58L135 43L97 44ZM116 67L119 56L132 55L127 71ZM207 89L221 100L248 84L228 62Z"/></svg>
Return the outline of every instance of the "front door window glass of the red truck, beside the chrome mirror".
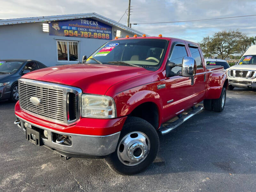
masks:
<svg viewBox="0 0 256 192"><path fill-rule="evenodd" d="M187 56L188 54L185 46L175 45L171 55L169 56L169 61L175 64L182 64L182 59ZM181 71L181 67L176 66L172 68L172 71L174 73L178 73L179 71Z"/></svg>

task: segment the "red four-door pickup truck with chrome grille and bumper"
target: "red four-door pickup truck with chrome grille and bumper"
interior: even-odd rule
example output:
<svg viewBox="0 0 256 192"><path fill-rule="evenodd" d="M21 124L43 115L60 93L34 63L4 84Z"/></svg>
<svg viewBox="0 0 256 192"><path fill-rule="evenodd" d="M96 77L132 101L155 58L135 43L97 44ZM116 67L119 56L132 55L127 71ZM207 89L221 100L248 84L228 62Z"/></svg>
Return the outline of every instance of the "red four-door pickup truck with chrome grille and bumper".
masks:
<svg viewBox="0 0 256 192"><path fill-rule="evenodd" d="M19 80L15 124L61 156L105 158L120 174L146 169L171 132L203 109L222 111L228 79L198 44L170 37L110 41L84 63ZM196 107L197 106L197 107Z"/></svg>

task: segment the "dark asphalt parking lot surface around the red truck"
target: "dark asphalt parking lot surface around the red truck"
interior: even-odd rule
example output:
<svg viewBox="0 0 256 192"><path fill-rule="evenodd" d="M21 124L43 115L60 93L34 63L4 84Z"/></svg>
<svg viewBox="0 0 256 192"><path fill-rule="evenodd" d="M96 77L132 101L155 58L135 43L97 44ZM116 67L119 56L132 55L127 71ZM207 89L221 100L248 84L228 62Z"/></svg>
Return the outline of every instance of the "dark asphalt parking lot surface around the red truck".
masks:
<svg viewBox="0 0 256 192"><path fill-rule="evenodd" d="M221 113L201 111L160 137L155 162L133 176L104 159L71 158L38 147L0 102L0 191L256 191L256 92L227 92Z"/></svg>

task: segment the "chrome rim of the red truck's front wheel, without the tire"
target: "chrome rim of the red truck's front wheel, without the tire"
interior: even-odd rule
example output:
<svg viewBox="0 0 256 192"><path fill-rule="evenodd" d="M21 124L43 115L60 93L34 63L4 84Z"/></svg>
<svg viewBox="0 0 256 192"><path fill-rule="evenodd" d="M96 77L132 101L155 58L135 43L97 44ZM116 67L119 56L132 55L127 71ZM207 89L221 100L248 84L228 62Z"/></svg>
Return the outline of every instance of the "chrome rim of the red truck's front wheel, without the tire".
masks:
<svg viewBox="0 0 256 192"><path fill-rule="evenodd" d="M143 132L131 132L123 137L117 148L119 160L128 166L140 164L148 156L150 141Z"/></svg>

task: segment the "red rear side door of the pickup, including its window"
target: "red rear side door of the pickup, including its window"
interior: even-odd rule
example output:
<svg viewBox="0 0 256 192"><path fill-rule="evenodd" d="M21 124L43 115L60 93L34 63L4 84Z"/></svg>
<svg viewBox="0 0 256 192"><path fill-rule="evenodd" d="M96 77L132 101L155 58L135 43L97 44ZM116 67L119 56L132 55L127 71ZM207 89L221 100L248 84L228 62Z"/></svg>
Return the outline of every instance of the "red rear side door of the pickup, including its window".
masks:
<svg viewBox="0 0 256 192"><path fill-rule="evenodd" d="M193 86L193 103L199 103L204 99L206 85L206 68L203 64L203 55L200 54L199 47L196 44L188 44L188 48L196 60L196 75L192 77L191 84Z"/></svg>

